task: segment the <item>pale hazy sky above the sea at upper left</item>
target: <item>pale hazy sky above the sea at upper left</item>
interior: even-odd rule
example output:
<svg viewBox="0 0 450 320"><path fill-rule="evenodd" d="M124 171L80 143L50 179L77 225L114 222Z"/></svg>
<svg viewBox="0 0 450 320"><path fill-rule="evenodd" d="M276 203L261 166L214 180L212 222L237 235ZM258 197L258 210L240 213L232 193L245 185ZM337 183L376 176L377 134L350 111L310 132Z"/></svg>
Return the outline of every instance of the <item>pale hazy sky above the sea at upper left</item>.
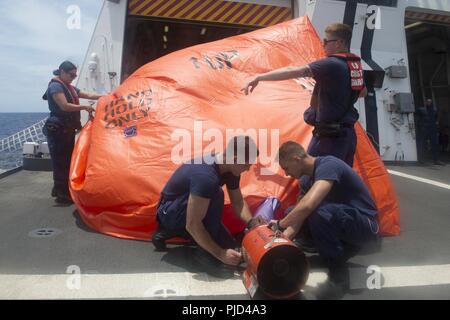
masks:
<svg viewBox="0 0 450 320"><path fill-rule="evenodd" d="M79 67L103 0L0 1L0 112L47 112L42 94L64 60ZM69 29L69 6L80 29Z"/></svg>

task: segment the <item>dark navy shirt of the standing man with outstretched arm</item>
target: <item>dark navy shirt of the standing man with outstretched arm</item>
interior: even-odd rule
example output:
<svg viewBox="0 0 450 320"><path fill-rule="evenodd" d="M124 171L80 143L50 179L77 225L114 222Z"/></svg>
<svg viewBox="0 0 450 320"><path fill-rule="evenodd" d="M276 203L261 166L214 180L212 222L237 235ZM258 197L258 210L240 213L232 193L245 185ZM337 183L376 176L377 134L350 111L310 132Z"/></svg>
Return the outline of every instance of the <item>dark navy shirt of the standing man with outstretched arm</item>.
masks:
<svg viewBox="0 0 450 320"><path fill-rule="evenodd" d="M317 102L317 105L313 106L316 111L315 122L354 124L359 115L351 101L352 88L347 62L328 57L310 63L309 68L316 80L312 99ZM349 104L352 105L350 110Z"/></svg>

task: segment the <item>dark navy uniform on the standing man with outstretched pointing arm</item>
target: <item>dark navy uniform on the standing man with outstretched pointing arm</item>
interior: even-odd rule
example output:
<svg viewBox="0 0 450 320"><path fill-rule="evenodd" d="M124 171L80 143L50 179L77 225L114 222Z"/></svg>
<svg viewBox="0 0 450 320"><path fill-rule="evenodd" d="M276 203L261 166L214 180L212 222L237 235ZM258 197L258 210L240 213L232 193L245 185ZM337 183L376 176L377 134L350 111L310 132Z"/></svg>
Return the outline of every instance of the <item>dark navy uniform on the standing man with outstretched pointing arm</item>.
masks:
<svg viewBox="0 0 450 320"><path fill-rule="evenodd" d="M328 57L310 63L309 68L316 85L311 108L304 114L305 122L315 126L340 123L343 128L338 137L319 137L314 134L308 153L315 157L332 155L353 166L356 151L354 124L359 114L353 106L354 97L347 62L337 57Z"/></svg>

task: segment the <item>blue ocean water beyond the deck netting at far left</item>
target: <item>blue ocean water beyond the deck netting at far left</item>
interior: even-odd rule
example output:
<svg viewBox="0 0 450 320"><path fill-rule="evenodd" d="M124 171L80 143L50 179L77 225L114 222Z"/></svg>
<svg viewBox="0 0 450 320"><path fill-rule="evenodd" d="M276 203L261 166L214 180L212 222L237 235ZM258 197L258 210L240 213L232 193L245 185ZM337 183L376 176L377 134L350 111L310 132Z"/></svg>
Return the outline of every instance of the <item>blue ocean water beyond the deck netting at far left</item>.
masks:
<svg viewBox="0 0 450 320"><path fill-rule="evenodd" d="M1 113L0 140L32 126L48 117L48 112L42 113ZM0 172L13 169L22 164L22 149L16 151L0 151Z"/></svg>

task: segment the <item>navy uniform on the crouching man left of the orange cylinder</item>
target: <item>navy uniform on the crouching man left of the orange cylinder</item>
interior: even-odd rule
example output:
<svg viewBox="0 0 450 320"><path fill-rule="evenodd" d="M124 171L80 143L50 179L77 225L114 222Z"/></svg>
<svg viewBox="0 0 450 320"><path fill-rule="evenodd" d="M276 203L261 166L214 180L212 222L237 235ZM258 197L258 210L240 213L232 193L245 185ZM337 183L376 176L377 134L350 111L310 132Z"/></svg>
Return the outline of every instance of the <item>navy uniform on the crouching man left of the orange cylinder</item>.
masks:
<svg viewBox="0 0 450 320"><path fill-rule="evenodd" d="M198 160L198 159L197 159ZM182 234L186 228L186 211L190 194L210 199L203 225L222 248L234 248L235 241L222 224L225 184L228 190L239 188L240 176L220 174L213 158L192 160L181 165L161 192L157 209L158 223L166 230Z"/></svg>

